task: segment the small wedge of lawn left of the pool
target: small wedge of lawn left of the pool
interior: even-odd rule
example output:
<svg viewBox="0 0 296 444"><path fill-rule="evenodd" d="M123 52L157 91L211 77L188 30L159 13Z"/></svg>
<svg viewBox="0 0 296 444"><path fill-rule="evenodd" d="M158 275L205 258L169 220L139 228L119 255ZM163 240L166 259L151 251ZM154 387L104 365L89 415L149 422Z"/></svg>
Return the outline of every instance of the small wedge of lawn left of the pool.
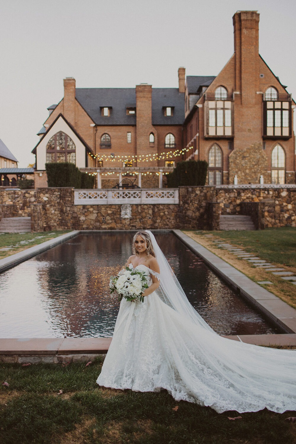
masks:
<svg viewBox="0 0 296 444"><path fill-rule="evenodd" d="M56 238L67 231L43 231L42 233L0 233L0 259L18 253L26 248ZM6 250L9 248L9 250ZM5 249L5 250L2 250Z"/></svg>

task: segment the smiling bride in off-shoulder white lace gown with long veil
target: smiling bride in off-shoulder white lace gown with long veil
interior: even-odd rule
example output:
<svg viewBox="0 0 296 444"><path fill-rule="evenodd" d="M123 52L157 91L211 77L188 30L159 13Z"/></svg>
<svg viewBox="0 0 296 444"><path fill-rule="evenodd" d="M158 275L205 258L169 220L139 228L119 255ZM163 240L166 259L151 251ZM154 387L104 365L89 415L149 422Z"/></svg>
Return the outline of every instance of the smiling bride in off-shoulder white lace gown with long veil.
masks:
<svg viewBox="0 0 296 444"><path fill-rule="evenodd" d="M122 298L97 379L113 389L159 392L217 412L296 409L296 351L220 337L182 290L150 231L139 231L127 266L146 274L144 302Z"/></svg>

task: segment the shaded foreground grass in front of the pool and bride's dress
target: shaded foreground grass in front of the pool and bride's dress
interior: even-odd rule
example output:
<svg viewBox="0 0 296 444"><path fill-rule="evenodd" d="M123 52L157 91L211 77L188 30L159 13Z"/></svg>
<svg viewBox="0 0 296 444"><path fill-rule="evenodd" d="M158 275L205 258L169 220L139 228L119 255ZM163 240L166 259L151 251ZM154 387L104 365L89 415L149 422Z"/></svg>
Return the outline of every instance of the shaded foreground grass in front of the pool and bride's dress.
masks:
<svg viewBox="0 0 296 444"><path fill-rule="evenodd" d="M296 423L287 420L296 412L218 414L166 391L102 389L95 383L100 368L99 360L0 364L0 380L9 384L0 384L1 444L296 443Z"/></svg>

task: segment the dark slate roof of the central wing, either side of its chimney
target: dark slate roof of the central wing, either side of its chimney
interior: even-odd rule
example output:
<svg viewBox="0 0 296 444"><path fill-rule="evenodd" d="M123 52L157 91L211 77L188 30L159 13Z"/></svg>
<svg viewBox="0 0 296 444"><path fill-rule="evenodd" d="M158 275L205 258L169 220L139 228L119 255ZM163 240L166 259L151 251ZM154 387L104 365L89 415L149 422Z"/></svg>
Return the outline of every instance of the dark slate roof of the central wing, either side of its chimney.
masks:
<svg viewBox="0 0 296 444"><path fill-rule="evenodd" d="M127 115L126 107L136 106L135 88L76 88L76 99L97 125L135 125L136 115ZM112 107L111 115L101 115L102 107ZM166 117L163 107L174 107ZM182 125L184 93L178 88L152 88L152 124Z"/></svg>

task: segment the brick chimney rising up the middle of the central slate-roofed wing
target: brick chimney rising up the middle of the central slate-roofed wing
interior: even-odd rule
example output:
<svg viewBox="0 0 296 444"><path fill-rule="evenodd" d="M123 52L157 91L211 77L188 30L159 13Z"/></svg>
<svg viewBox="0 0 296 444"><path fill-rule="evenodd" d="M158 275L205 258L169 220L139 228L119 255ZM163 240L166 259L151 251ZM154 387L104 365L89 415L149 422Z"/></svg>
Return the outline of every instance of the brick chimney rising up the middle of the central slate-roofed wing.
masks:
<svg viewBox="0 0 296 444"><path fill-rule="evenodd" d="M147 83L136 85L136 124L137 155L156 154L157 137L152 126L152 85ZM149 145L150 132L154 133L154 147ZM150 165L156 166L157 163Z"/></svg>

